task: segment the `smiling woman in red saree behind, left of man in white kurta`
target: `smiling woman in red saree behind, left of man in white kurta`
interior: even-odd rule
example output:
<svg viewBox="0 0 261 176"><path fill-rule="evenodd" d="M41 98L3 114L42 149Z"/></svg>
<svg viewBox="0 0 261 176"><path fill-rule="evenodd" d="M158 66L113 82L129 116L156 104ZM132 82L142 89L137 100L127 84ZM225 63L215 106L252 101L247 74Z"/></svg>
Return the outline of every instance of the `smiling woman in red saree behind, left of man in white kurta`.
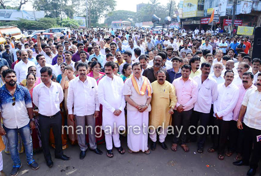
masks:
<svg viewBox="0 0 261 176"><path fill-rule="evenodd" d="M91 69L92 71L87 74L87 76L93 77L96 81L97 84L99 84L99 81L105 76L105 73L100 72L101 70L101 64L98 61L93 61L91 64ZM100 105L100 112L99 112L99 117L96 118L95 120L95 126L102 126L102 105ZM99 136L101 132L100 137L96 137L96 143L97 144L103 144L105 143L105 138L104 138L104 133L101 130L101 128L96 128L97 136ZM86 134L86 139L88 138L88 135ZM88 143L88 141L87 141Z"/></svg>

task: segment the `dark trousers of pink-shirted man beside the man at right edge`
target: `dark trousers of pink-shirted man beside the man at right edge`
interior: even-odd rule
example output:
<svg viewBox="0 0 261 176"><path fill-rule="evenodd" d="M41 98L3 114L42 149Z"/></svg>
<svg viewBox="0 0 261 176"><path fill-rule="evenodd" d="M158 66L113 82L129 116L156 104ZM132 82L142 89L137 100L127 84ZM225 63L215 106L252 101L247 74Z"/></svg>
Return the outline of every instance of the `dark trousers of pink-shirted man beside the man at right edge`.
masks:
<svg viewBox="0 0 261 176"><path fill-rule="evenodd" d="M236 126L237 121L232 121L230 126L229 146L230 151L241 153L243 152L244 133Z"/></svg>

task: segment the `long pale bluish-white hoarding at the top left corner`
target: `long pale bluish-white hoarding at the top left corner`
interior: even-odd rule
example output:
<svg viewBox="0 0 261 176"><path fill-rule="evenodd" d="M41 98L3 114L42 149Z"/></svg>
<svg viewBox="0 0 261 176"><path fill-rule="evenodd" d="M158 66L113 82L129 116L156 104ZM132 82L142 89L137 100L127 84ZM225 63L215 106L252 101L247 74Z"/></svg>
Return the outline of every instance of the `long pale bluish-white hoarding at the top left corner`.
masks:
<svg viewBox="0 0 261 176"><path fill-rule="evenodd" d="M0 10L0 20L2 21L19 21L20 18L36 21L39 18L44 18L44 11Z"/></svg>

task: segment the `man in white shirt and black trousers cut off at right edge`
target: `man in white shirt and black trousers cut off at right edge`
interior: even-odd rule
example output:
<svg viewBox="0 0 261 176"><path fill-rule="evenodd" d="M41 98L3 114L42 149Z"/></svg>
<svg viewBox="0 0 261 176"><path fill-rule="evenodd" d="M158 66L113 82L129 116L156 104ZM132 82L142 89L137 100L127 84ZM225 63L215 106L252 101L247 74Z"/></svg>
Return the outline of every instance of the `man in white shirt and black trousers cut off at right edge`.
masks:
<svg viewBox="0 0 261 176"><path fill-rule="evenodd" d="M261 156L261 73L258 73L256 87L246 91L237 120L237 128L244 133L242 160L234 165L248 165L247 175L254 175ZM243 123L242 123L243 119ZM252 153L252 157L250 159ZM250 160L249 160L250 159Z"/></svg>

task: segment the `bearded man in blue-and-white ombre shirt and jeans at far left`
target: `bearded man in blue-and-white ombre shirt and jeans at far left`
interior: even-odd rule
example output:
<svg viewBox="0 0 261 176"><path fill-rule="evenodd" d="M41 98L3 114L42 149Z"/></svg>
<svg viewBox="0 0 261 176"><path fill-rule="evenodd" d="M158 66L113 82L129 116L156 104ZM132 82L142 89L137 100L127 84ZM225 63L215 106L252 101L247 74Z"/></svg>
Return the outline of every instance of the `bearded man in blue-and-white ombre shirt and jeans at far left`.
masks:
<svg viewBox="0 0 261 176"><path fill-rule="evenodd" d="M0 116L4 124L3 127L0 126L0 135L7 135L14 162L10 175L17 175L22 167L18 153L18 132L26 149L28 165L34 170L39 168L38 163L33 159L31 138L31 129L35 128L33 105L29 91L24 86L17 84L16 72L13 69L7 69L2 74L6 84L0 88ZM0 155L1 160L2 154Z"/></svg>

